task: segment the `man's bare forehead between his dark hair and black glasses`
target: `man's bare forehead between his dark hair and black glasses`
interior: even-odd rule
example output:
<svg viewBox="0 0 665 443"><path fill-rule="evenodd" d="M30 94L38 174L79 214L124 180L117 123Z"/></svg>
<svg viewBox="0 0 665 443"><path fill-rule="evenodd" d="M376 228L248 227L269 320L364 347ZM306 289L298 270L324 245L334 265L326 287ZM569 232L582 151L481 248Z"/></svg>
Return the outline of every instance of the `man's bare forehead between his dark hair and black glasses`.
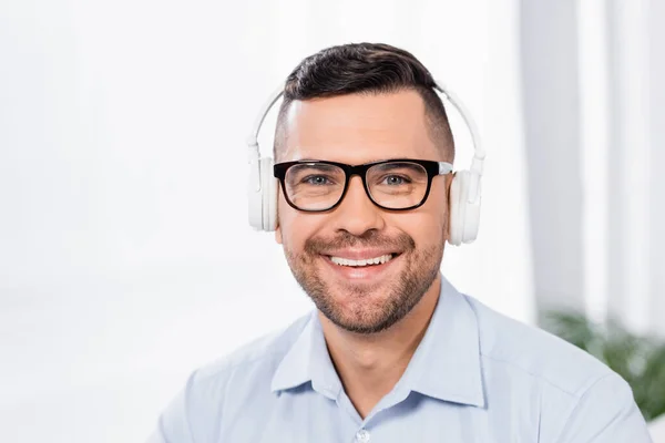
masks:
<svg viewBox="0 0 665 443"><path fill-rule="evenodd" d="M284 123L282 161L359 164L440 156L428 136L424 103L415 91L295 101Z"/></svg>

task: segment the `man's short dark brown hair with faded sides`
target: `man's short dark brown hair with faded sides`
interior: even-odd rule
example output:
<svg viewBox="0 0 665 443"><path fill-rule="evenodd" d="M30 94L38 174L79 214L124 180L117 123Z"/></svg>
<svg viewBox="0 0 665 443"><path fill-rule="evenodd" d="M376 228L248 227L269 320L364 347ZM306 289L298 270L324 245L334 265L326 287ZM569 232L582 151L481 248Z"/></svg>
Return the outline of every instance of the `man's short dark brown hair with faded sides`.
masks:
<svg viewBox="0 0 665 443"><path fill-rule="evenodd" d="M295 100L411 90L424 102L430 138L452 163L454 141L443 102L434 87L434 79L427 68L402 49L385 43L350 43L324 49L304 59L286 80L273 156L277 161L286 137L286 114Z"/></svg>

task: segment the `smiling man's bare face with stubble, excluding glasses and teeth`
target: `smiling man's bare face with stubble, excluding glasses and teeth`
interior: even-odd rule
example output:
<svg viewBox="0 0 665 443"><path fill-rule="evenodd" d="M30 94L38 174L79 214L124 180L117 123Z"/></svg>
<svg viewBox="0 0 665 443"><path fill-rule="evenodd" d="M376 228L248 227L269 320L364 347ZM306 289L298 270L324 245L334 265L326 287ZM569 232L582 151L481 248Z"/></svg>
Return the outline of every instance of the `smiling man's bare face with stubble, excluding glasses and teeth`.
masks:
<svg viewBox="0 0 665 443"><path fill-rule="evenodd" d="M413 91L296 101L285 120L278 162L444 161L428 136L426 119L424 103ZM326 213L294 209L280 188L275 238L296 280L330 321L349 331L377 332L418 303L439 275L449 177L434 177L427 202L405 212L374 205L359 176L351 177L339 206ZM387 262L366 266L332 259L383 261L387 256Z"/></svg>

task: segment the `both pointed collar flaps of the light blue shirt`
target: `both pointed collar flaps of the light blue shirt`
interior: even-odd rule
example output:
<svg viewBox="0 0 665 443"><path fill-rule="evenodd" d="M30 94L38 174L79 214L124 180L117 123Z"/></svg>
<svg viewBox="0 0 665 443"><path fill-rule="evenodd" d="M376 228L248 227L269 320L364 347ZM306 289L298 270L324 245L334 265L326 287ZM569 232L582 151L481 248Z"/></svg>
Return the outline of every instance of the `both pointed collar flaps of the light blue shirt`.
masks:
<svg viewBox="0 0 665 443"><path fill-rule="evenodd" d="M272 390L308 381L330 399L337 399L341 391L316 310L277 367ZM443 401L485 404L478 320L466 297L443 277L430 324L397 388Z"/></svg>

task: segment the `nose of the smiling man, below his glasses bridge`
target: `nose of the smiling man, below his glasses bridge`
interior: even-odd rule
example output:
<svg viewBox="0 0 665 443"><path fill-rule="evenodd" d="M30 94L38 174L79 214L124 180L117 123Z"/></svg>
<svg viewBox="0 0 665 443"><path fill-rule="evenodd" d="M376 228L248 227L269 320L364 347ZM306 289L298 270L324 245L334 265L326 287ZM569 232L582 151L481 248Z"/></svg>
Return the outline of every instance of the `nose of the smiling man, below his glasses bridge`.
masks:
<svg viewBox="0 0 665 443"><path fill-rule="evenodd" d="M354 176L349 181L344 199L335 210L336 229L360 237L368 230L380 230L385 226L381 209L370 199L362 179Z"/></svg>

